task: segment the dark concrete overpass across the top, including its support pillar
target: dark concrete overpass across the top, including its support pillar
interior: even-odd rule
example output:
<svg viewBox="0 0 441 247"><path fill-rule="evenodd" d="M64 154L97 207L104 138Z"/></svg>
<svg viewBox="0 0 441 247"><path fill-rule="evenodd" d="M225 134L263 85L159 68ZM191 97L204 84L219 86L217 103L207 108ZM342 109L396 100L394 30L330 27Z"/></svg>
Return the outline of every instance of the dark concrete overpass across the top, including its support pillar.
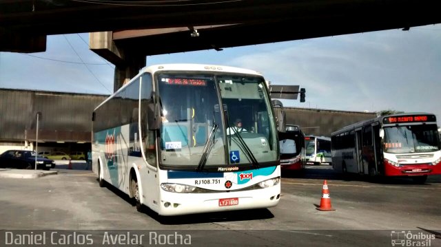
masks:
<svg viewBox="0 0 441 247"><path fill-rule="evenodd" d="M118 89L149 55L407 30L441 23L440 9L432 0L3 0L0 51L42 52L46 35L99 32L90 46L116 65Z"/></svg>

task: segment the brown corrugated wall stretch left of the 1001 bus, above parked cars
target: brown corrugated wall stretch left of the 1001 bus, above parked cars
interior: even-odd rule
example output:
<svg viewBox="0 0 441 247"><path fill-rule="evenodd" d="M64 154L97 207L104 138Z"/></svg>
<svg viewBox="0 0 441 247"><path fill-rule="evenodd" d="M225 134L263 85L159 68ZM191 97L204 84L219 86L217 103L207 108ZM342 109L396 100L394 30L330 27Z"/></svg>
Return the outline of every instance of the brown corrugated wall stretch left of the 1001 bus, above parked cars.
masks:
<svg viewBox="0 0 441 247"><path fill-rule="evenodd" d="M0 89L0 140L90 141L92 111L107 96ZM26 135L26 136L25 136Z"/></svg>

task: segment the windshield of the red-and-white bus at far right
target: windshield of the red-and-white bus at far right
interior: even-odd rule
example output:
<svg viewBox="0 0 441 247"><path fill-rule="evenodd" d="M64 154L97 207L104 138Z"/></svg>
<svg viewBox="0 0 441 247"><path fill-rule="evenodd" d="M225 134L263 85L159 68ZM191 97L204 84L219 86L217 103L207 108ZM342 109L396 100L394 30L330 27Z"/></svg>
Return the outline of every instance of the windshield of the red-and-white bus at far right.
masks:
<svg viewBox="0 0 441 247"><path fill-rule="evenodd" d="M387 153L424 153L440 150L436 125L384 127Z"/></svg>

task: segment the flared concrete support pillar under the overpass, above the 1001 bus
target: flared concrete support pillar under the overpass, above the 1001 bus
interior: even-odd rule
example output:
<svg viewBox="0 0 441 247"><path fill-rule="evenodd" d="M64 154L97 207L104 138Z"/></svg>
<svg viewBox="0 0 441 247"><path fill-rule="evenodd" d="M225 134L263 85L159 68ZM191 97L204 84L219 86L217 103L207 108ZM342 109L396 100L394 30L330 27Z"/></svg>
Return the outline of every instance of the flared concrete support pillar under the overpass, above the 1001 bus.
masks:
<svg viewBox="0 0 441 247"><path fill-rule="evenodd" d="M91 32L90 50L115 65L114 92L145 67L145 56L118 47L113 41L113 32Z"/></svg>

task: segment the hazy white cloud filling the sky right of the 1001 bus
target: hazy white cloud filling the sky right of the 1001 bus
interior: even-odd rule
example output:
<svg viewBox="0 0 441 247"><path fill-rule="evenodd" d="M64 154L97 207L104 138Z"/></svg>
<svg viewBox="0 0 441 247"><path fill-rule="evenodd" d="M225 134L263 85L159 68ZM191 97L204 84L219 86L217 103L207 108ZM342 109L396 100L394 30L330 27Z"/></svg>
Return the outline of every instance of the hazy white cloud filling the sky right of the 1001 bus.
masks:
<svg viewBox="0 0 441 247"><path fill-rule="evenodd" d="M440 38L440 30L419 28L291 41L231 63L274 84L305 87L307 101L320 108L432 111L441 118L434 107L441 92Z"/></svg>

